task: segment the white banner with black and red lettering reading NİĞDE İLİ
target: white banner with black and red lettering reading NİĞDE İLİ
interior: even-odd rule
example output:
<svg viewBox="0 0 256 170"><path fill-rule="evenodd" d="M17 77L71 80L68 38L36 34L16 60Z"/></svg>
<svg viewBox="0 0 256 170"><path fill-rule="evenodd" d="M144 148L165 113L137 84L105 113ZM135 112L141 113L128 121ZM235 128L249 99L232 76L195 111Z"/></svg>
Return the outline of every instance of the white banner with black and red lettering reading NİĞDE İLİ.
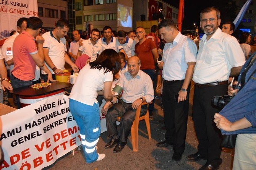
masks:
<svg viewBox="0 0 256 170"><path fill-rule="evenodd" d="M81 145L66 95L49 97L0 117L0 170L40 170Z"/></svg>

